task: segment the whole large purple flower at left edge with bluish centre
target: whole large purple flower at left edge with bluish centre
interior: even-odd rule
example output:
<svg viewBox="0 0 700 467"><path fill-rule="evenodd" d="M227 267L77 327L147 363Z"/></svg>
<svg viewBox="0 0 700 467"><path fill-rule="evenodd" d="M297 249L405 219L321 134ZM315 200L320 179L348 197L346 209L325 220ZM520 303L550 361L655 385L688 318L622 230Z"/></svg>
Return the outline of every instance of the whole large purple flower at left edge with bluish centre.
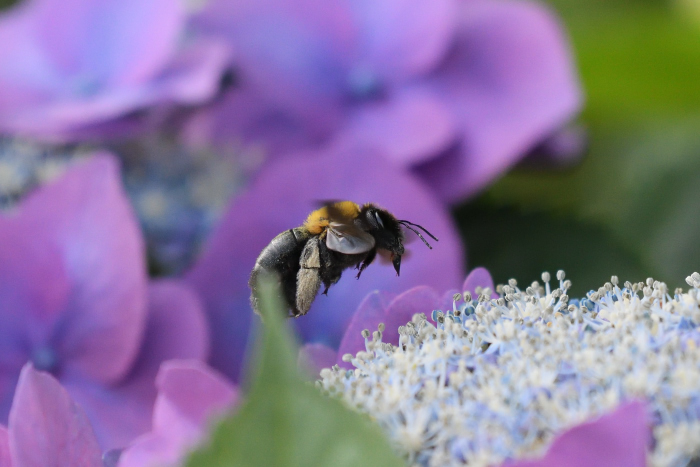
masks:
<svg viewBox="0 0 700 467"><path fill-rule="evenodd" d="M0 416L29 361L84 408L104 448L148 430L163 360L208 349L193 292L148 283L138 226L105 154L0 216L0 320Z"/></svg>

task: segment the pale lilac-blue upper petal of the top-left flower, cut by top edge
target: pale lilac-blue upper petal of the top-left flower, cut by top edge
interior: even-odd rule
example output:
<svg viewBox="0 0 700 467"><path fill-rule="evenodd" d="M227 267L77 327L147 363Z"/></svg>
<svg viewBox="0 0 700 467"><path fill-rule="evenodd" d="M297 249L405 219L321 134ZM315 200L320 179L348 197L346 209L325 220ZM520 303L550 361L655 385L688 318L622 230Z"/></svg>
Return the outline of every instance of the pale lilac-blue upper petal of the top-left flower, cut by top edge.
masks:
<svg viewBox="0 0 700 467"><path fill-rule="evenodd" d="M177 0L33 3L33 34L62 75L59 86L77 78L113 86L154 77L174 55L186 20Z"/></svg>

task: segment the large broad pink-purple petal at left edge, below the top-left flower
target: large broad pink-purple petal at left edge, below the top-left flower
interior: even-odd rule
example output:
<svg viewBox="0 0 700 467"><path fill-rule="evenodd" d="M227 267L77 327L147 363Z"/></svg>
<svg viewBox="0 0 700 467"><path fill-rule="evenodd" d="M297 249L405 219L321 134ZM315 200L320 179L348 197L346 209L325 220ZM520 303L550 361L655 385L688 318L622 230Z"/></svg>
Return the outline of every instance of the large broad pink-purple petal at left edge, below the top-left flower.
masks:
<svg viewBox="0 0 700 467"><path fill-rule="evenodd" d="M145 324L146 265L116 161L101 154L69 170L27 197L17 213L0 217L0 231L27 237L20 251L44 250L36 260L30 255L31 263L10 254L12 262L3 262L2 269L17 271L21 281L0 299L13 306L2 313L17 325L12 331L18 334L7 340L17 345L24 338L30 351L50 348L66 373L103 382L121 378ZM38 278L47 289L32 296Z"/></svg>

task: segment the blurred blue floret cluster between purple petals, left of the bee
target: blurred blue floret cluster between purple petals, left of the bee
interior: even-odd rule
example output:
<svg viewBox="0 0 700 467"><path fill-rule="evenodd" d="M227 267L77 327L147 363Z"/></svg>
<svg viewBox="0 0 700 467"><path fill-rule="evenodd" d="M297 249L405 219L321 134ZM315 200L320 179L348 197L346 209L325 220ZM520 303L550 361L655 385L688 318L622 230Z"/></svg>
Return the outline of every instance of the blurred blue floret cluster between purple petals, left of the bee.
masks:
<svg viewBox="0 0 700 467"><path fill-rule="evenodd" d="M124 184L146 238L151 271L191 266L245 174L237 159L155 137L122 148Z"/></svg>

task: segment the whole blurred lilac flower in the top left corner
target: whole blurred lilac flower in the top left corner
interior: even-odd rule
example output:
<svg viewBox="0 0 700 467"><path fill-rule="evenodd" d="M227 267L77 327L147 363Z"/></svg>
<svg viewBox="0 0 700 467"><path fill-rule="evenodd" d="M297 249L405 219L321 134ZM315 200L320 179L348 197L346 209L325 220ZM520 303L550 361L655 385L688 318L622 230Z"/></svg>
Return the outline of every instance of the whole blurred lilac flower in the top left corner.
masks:
<svg viewBox="0 0 700 467"><path fill-rule="evenodd" d="M218 90L227 48L179 0L27 0L0 16L0 133L70 140ZM114 128L111 128L114 129Z"/></svg>

